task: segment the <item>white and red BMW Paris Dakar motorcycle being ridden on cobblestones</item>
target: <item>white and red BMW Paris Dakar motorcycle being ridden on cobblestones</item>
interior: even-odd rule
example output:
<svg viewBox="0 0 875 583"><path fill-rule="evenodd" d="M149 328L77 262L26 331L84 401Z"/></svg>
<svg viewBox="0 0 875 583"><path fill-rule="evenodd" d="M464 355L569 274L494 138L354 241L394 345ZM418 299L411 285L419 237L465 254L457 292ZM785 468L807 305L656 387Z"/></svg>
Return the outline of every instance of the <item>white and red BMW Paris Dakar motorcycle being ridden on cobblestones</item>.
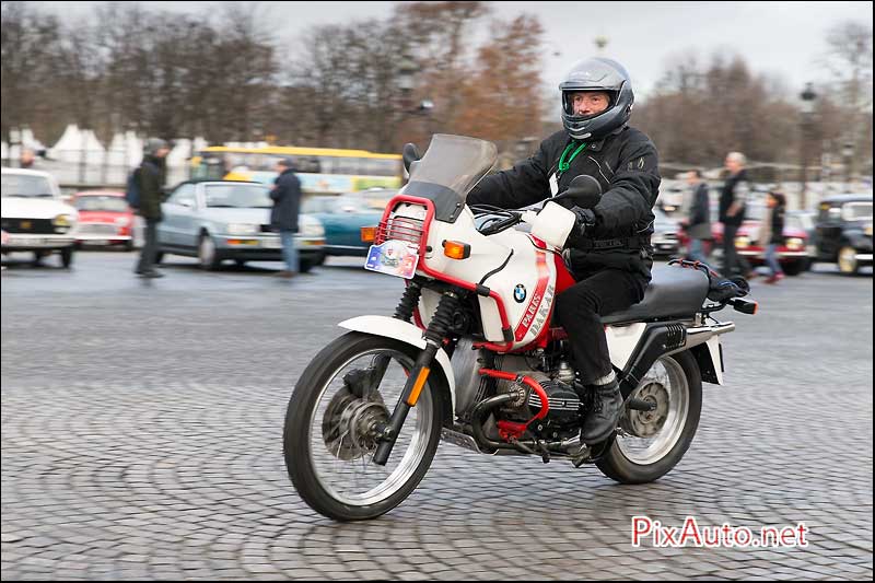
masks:
<svg viewBox="0 0 875 583"><path fill-rule="evenodd" d="M600 187L580 176L540 211L471 209L466 196L497 155L460 136L434 136L421 159L405 147L410 180L365 263L402 278L405 292L392 317L339 324L348 331L308 364L285 415L289 477L327 517L374 518L400 504L441 440L651 482L690 446L702 382L723 384L720 337L735 325L713 314L754 314L756 302L699 264L654 269L640 303L603 317L625 409L604 442L581 442L593 404L575 390L568 336L552 323L557 294L574 284L562 256L574 215L560 202L592 208ZM514 229L523 223L530 232Z"/></svg>

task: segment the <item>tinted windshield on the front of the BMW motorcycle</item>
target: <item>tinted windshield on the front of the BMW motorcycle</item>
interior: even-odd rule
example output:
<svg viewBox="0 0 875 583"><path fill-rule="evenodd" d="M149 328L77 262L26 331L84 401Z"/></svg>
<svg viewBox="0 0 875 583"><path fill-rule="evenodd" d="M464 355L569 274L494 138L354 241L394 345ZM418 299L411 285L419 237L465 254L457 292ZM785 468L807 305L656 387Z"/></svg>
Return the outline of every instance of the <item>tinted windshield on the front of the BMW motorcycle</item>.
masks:
<svg viewBox="0 0 875 583"><path fill-rule="evenodd" d="M435 135L425 155L410 168L401 194L434 202L439 221L454 222L468 193L495 164L495 144L463 136Z"/></svg>

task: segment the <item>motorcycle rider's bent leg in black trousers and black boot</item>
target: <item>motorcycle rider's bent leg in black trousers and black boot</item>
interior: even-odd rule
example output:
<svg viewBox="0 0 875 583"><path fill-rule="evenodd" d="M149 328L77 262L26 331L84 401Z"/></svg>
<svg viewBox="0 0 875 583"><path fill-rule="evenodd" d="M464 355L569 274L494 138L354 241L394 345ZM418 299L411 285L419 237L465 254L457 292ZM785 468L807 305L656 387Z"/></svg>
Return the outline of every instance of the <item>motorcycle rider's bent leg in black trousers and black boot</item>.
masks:
<svg viewBox="0 0 875 583"><path fill-rule="evenodd" d="M557 315L571 341L575 368L593 396L593 407L586 413L581 433L584 443L605 440L622 412L622 396L600 316L640 302L646 283L640 275L605 269L582 279L557 298Z"/></svg>

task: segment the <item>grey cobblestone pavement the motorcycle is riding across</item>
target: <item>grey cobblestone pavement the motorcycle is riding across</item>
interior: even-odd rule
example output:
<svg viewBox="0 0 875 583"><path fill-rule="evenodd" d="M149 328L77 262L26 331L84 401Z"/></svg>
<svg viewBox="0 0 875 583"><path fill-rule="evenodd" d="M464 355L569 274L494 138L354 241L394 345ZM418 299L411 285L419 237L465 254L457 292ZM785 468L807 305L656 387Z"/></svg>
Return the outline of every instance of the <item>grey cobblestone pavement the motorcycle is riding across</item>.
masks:
<svg viewBox="0 0 875 583"><path fill-rule="evenodd" d="M399 508L338 524L292 489L290 390L337 322L392 312L358 260L151 283L126 254L2 275L2 579L871 580L872 276L755 282L724 314L727 385L657 482L442 444ZM345 265L343 265L345 264ZM667 526L796 525L807 548L631 545Z"/></svg>

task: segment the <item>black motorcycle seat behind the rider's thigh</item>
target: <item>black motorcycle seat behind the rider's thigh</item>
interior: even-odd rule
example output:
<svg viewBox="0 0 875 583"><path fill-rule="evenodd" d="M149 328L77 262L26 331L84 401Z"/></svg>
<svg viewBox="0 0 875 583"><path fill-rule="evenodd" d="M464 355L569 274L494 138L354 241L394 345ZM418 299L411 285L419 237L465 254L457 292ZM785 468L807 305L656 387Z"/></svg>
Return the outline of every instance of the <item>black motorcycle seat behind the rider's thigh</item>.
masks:
<svg viewBox="0 0 875 583"><path fill-rule="evenodd" d="M602 316L603 324L668 317L689 317L708 296L708 276L698 269L656 266L644 299L628 310Z"/></svg>

